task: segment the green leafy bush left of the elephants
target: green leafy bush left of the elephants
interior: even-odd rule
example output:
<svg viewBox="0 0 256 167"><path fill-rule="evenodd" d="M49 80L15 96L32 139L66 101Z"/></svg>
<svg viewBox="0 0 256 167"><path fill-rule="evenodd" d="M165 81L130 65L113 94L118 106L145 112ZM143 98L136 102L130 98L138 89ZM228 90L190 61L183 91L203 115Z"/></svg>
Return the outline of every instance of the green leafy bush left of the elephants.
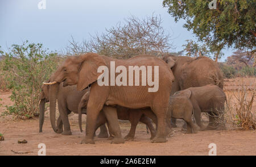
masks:
<svg viewBox="0 0 256 167"><path fill-rule="evenodd" d="M31 118L38 113L40 87L56 69L57 54L48 52L42 44L24 42L11 45L6 53L2 69L7 87L11 89L12 106L6 106L5 114L15 118Z"/></svg>

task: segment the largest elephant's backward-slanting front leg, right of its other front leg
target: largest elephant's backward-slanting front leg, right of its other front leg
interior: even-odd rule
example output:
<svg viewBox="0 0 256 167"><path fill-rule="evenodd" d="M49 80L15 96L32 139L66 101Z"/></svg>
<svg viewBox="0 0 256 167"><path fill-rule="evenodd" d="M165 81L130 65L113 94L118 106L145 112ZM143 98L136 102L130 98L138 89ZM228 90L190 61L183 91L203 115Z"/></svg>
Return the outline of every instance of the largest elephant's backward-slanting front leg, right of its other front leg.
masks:
<svg viewBox="0 0 256 167"><path fill-rule="evenodd" d="M108 120L110 129L114 133L114 138L112 140L112 143L115 143L115 144L125 143L125 141L122 139L121 129L118 123L117 108L104 106L103 111L104 111L104 114L106 115L106 119Z"/></svg>

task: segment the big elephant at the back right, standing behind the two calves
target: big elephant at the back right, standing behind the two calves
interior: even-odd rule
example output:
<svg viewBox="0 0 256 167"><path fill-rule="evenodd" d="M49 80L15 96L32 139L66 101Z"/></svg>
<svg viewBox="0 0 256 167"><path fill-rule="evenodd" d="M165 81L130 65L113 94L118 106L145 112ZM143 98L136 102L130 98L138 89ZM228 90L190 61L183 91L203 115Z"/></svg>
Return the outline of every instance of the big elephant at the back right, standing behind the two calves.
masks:
<svg viewBox="0 0 256 167"><path fill-rule="evenodd" d="M174 73L171 95L176 91L189 87L199 87L208 84L217 85L223 89L224 77L218 65L208 57L187 57L166 55L163 60ZM176 120L172 119L172 127L176 127Z"/></svg>

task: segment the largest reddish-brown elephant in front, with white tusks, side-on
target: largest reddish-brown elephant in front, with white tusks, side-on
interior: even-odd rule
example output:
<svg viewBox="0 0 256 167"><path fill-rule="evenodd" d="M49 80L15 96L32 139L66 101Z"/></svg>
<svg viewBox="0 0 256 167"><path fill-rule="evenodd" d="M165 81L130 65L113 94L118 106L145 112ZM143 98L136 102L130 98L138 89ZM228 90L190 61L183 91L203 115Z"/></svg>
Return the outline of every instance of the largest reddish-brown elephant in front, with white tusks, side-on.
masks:
<svg viewBox="0 0 256 167"><path fill-rule="evenodd" d="M117 69L113 66L117 66ZM104 73L102 73L103 70ZM146 73L147 77L142 73ZM110 80L108 77L104 77L104 81L102 81L103 76L110 76ZM127 78L127 76L129 77ZM120 82L122 78L121 85L119 85L120 82L114 83L118 78ZM152 82L152 78L154 78L154 82ZM104 84L96 82L100 80ZM60 82L64 82L63 86L77 84L77 90L80 91L91 86L87 106L86 137L82 143L94 144L93 134L96 119L104 105L106 106L104 110L106 118L115 135L113 143L123 143L117 111L112 107L115 105L134 109L150 107L158 119L158 131L151 141L166 142L168 99L174 75L163 60L150 55L118 60L96 53L86 53L65 60L63 65L51 76L50 81L48 84ZM51 99L53 99L52 102ZM56 105L54 99L56 96L50 95L50 107ZM111 117L114 119L109 120L108 114L114 115ZM53 129L56 129L55 119L51 119L51 123Z"/></svg>

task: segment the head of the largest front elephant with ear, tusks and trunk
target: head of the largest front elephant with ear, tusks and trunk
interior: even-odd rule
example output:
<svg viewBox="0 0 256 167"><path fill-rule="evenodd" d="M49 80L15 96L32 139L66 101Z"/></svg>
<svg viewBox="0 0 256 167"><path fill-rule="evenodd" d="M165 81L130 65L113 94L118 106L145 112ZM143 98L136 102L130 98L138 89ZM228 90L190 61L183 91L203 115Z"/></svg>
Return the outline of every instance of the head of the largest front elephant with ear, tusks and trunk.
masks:
<svg viewBox="0 0 256 167"><path fill-rule="evenodd" d="M56 132L56 98L59 83L63 86L76 85L77 90L83 90L97 81L101 73L97 73L98 67L106 65L105 60L96 53L86 53L85 55L72 56L66 59L63 64L52 74L50 82L44 83L50 85L50 119L53 130Z"/></svg>

